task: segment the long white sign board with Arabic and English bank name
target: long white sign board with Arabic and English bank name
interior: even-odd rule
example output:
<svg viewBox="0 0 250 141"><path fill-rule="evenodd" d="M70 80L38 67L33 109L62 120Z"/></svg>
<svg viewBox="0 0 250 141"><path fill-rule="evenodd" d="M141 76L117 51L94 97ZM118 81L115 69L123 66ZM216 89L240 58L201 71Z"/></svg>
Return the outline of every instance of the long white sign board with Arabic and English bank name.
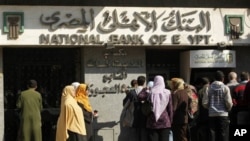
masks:
<svg viewBox="0 0 250 141"><path fill-rule="evenodd" d="M250 25L250 21L243 21L246 19L244 17L247 16L247 10L0 6L0 19L3 19L0 22L0 45L228 46L236 42L250 44L247 40L250 31L247 25ZM227 21L230 21L230 15L240 17L240 34L235 35L236 40L230 39L230 28L225 29L224 18L229 17ZM225 31L228 34L225 34Z"/></svg>

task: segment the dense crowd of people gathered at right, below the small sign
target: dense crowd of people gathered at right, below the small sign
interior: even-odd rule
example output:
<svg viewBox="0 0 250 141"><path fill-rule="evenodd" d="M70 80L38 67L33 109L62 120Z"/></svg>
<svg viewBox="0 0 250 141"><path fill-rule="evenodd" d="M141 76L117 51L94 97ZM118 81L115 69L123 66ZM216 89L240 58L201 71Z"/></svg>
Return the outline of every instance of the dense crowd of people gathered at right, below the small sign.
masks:
<svg viewBox="0 0 250 141"><path fill-rule="evenodd" d="M220 70L213 79L200 77L193 85L177 77L156 75L146 82L138 76L123 100L124 109L133 110L133 124L126 126L136 129L138 141L228 141L230 126L249 125L250 81L248 72L240 73L240 79L230 72L228 83L226 79ZM131 101L134 107L128 109ZM147 115L146 101L151 103Z"/></svg>

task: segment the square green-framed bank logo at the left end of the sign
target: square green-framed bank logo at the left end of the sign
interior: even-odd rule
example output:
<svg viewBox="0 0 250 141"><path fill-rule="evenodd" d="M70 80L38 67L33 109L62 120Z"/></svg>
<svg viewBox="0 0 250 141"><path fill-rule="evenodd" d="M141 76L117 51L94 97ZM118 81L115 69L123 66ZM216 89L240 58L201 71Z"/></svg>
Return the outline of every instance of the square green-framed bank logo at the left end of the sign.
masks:
<svg viewBox="0 0 250 141"><path fill-rule="evenodd" d="M24 31L23 12L3 12L3 33L8 34L9 40L18 39Z"/></svg>

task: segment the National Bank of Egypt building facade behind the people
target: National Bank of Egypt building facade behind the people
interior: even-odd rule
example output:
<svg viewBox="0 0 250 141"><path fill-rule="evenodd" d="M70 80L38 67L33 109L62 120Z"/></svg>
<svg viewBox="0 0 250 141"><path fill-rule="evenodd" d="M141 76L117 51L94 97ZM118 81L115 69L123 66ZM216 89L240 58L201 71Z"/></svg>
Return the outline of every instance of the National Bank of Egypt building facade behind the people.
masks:
<svg viewBox="0 0 250 141"><path fill-rule="evenodd" d="M78 81L98 111L94 141L125 141L124 90L139 75L192 84L250 70L248 8L0 5L0 19L0 140L16 138L15 102L30 78L43 97L44 140L54 138L63 87Z"/></svg>

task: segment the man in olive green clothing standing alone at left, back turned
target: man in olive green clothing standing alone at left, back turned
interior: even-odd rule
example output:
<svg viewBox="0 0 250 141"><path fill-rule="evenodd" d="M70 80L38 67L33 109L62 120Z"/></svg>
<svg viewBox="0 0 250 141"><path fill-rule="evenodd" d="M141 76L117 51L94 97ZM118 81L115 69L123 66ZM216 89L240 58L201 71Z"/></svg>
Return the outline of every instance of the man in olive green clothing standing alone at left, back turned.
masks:
<svg viewBox="0 0 250 141"><path fill-rule="evenodd" d="M22 141L42 141L42 97L36 91L36 80L29 80L27 86L28 89L21 92L16 104L21 114L20 138Z"/></svg>

